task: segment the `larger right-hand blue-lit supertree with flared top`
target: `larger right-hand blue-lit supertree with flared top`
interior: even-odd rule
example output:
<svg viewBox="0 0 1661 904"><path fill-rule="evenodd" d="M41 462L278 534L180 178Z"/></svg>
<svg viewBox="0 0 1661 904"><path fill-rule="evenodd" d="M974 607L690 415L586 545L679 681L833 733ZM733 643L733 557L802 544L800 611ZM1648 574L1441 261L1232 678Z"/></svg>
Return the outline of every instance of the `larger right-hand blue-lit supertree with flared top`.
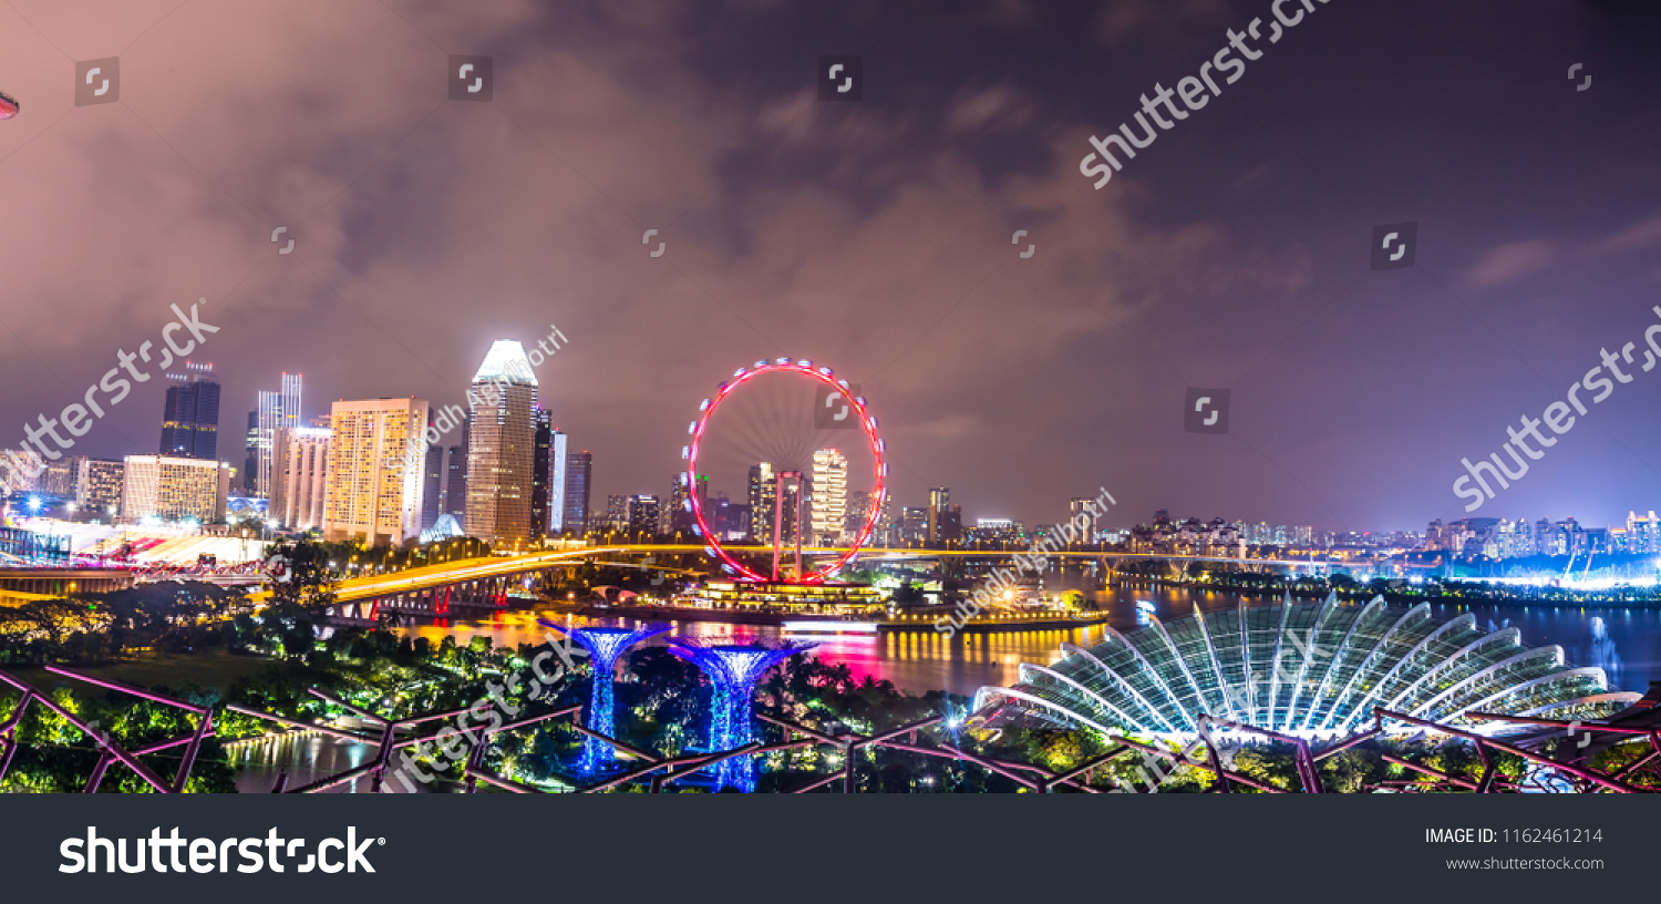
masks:
<svg viewBox="0 0 1661 904"><path fill-rule="evenodd" d="M814 643L762 646L759 643L726 643L704 646L694 638L678 636L669 641L669 651L696 665L714 685L709 701L709 751L719 753L744 746L754 736L749 705L756 683L772 666L812 650ZM716 766L716 788L734 786L739 791L756 789L756 758L736 756Z"/></svg>

